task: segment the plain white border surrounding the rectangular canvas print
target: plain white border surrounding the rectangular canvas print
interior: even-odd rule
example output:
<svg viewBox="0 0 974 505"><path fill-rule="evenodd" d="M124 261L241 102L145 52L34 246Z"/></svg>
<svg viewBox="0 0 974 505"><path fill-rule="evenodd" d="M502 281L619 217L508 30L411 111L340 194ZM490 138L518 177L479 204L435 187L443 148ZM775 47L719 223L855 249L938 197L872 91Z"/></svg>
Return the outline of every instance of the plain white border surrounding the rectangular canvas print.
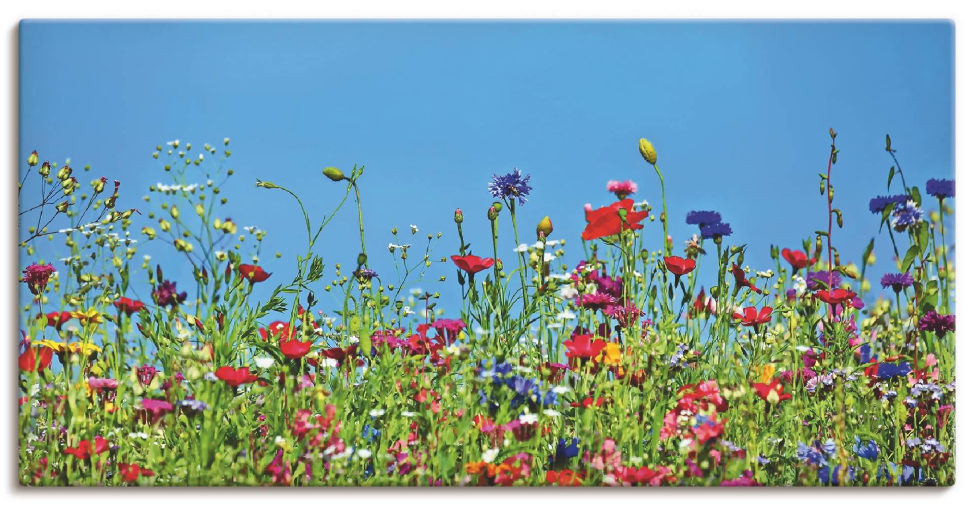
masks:
<svg viewBox="0 0 974 505"><path fill-rule="evenodd" d="M0 123L0 146L4 160L8 162L6 172L17 173L19 166L17 154L18 127L18 94L17 94L17 59L18 59L18 22L22 18L950 18L955 21L955 167L958 190L961 195L969 195L974 191L974 185L969 184L971 177L966 175L970 167L971 157L968 143L964 139L971 139L971 100L964 92L970 86L969 60L974 57L971 51L971 26L974 20L970 16L969 1L947 0L882 0L878 2L853 2L849 0L816 0L806 2L781 2L759 0L699 0L694 2L649 2L599 0L578 1L535 1L528 0L493 0L486 2L457 2L447 0L357 0L343 3L302 2L294 0L275 0L274 2L252 1L211 1L199 0L166 0L160 2L131 2L131 1L18 1L9 0L4 3L0 18L2 18L4 50L0 52L6 79L0 83L3 89L2 106L6 111L6 121ZM54 120L54 119L53 119ZM16 183L9 175L8 182L3 185L4 247L0 249L2 266L0 266L0 310L3 321L6 321L8 331L17 321L16 307L17 289L16 274L18 271L18 251L16 244ZM967 328L974 328L968 323L971 305L969 296L971 290L964 281L970 278L967 266L970 265L970 230L969 220L966 218L966 205L963 198L958 198L957 222L957 312L960 330L958 339L958 360L965 363L964 358L970 357L970 339ZM11 229L13 226L13 229ZM965 227L967 228L965 233ZM7 371L7 381L14 380L16 366L13 366L14 353L13 335L4 335L7 343L0 345L0 354L4 356L3 363L7 364L3 370ZM13 367L13 370L11 369ZM16 478L16 435L17 427L13 422L16 409L16 389L8 383L2 388L3 396L0 405L4 406L4 415L0 415L0 422L4 424L3 435L0 436L0 476L7 484L5 494L10 502L30 502L57 500L61 503L81 504L86 502L103 504L106 502L139 504L162 503L183 499L178 494L197 494L207 497L233 500L237 503L265 503L269 500L300 500L310 501L319 499L375 499L390 502L394 505L403 503L430 503L431 501L456 502L484 502L496 504L498 500L531 501L577 501L590 503L601 500L647 501L653 499L684 503L703 502L709 504L738 503L750 501L774 500L778 503L816 503L821 505L823 500L840 499L843 501L884 503L912 502L927 500L959 501L974 488L969 465L966 464L974 455L971 446L970 415L967 405L970 399L968 390L970 381L964 371L958 378L957 396L963 397L958 401L957 427L957 484L946 490L934 489L764 489L758 492L748 492L742 489L722 488L694 488L671 490L638 490L628 491L620 489L452 489L452 490L417 490L417 489L375 489L363 492L358 489L329 488L317 490L274 491L271 489L249 488L209 488L209 489L24 489L17 486ZM70 494L68 494L70 493ZM284 495L286 493L286 496ZM967 498L965 501L969 500ZM466 505L466 503L465 503Z"/></svg>

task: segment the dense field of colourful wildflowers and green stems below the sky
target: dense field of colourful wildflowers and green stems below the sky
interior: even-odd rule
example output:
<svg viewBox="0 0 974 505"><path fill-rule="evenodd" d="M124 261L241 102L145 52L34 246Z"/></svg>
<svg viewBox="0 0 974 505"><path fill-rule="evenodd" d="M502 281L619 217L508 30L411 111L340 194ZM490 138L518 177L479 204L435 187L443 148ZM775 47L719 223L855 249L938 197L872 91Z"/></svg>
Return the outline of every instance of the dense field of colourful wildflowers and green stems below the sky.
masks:
<svg viewBox="0 0 974 505"><path fill-rule="evenodd" d="M19 200L19 483L953 485L954 181L911 181L887 136L889 195L859 203L879 232L840 251L842 157L836 132L822 137L822 172L798 185L821 196L806 209L821 228L769 251L721 209L670 217L640 139L628 175L652 204L609 181L578 223L519 223L544 181L485 173L494 201L458 208L456 234L393 230L388 251L365 250L361 209L384 183L361 166L304 188L259 179L293 197L275 211L307 232L307 252L273 272L260 258L274 231L239 229L220 193L229 139L157 147L168 182L141 201L34 152ZM305 212L321 196L334 211ZM352 205L358 235L335 236ZM470 220L492 234L465 235ZM583 229L583 256L558 228ZM41 240L63 255L37 257ZM143 256L150 240L170 254ZM334 257L339 240L360 253ZM893 271L873 267L878 240ZM167 275L186 264L192 278ZM455 310L410 292L424 275L459 284ZM257 296L258 283L276 287Z"/></svg>

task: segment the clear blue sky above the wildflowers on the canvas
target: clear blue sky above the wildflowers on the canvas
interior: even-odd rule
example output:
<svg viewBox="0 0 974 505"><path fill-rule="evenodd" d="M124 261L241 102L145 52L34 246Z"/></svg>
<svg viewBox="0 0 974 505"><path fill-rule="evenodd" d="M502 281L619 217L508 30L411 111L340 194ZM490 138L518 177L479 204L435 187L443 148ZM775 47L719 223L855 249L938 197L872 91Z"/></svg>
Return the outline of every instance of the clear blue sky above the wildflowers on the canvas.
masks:
<svg viewBox="0 0 974 505"><path fill-rule="evenodd" d="M877 234L867 203L887 193L886 133L911 185L955 171L949 22L24 21L19 50L21 160L36 149L90 163L83 184L119 179L119 206L144 208L148 186L165 181L149 156L156 145L230 137L226 214L269 231L262 264L279 281L295 271L303 222L292 200L254 179L294 189L320 215L341 197L320 175L328 165L366 165L363 213L380 273L392 271L393 227L441 231L433 257L453 254L457 207L472 252L489 255L487 183L514 166L534 187L518 209L522 241L550 215L574 265L582 205L615 200L607 180L634 180L636 199L658 210L640 137L656 145L674 240L694 231L682 223L688 211L719 210L759 269L771 267L769 244L798 248L826 225L817 174L830 126L842 151L844 259ZM326 264L353 266L355 212L346 207L319 240ZM659 236L658 222L648 229ZM506 221L502 231L502 258L513 261ZM60 257L57 243L38 252ZM183 267L158 244L141 253L170 273ZM877 254L888 267L885 235ZM457 293L454 272L434 264L428 278L448 281L422 287Z"/></svg>

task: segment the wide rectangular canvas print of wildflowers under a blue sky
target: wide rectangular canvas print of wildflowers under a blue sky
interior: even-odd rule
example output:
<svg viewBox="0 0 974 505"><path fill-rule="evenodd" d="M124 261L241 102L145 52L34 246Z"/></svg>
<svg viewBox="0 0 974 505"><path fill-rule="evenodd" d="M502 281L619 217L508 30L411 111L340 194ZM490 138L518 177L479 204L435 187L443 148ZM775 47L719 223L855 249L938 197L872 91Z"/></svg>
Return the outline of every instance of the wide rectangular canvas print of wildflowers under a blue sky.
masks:
<svg viewBox="0 0 974 505"><path fill-rule="evenodd" d="M951 486L954 65L950 21L25 20L19 484Z"/></svg>

